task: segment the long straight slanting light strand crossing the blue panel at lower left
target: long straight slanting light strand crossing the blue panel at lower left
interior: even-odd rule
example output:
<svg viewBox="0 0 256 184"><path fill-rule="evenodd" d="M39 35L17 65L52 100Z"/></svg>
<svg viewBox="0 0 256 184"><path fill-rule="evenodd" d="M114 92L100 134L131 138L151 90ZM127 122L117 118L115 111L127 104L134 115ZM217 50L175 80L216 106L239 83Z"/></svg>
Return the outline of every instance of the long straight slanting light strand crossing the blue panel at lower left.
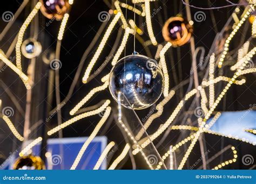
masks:
<svg viewBox="0 0 256 184"><path fill-rule="evenodd" d="M103 124L106 122L107 118L109 117L110 111L111 111L111 107L107 107L104 116L102 117L102 119L100 119L99 123L96 125L95 129L92 131L91 135L87 138L87 140L85 141L84 145L80 149L80 151L79 151L75 161L73 162L73 165L70 168L71 170L75 170L76 169L77 165L79 164L80 160L83 157L83 154L84 154L86 148L91 143L93 138L95 138L95 136L99 132L99 129L102 128Z"/></svg>

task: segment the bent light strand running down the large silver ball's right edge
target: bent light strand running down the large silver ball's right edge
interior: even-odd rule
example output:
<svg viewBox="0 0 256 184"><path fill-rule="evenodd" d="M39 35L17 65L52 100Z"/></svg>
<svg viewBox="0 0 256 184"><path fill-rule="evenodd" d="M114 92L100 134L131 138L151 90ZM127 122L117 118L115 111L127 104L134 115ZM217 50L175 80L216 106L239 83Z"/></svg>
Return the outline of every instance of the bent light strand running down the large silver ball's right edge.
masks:
<svg viewBox="0 0 256 184"><path fill-rule="evenodd" d="M168 96L169 93L169 75L164 54L171 46L171 43L167 43L160 51L160 63L164 73L164 97Z"/></svg>

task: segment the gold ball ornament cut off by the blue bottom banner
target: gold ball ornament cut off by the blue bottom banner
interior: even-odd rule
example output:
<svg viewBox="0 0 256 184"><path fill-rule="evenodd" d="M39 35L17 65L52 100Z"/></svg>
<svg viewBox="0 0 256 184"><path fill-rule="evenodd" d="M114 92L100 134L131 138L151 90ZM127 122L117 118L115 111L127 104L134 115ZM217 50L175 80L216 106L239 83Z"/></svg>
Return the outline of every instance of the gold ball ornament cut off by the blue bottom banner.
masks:
<svg viewBox="0 0 256 184"><path fill-rule="evenodd" d="M14 163L16 170L42 170L45 169L43 160L38 156L27 155L18 158Z"/></svg>

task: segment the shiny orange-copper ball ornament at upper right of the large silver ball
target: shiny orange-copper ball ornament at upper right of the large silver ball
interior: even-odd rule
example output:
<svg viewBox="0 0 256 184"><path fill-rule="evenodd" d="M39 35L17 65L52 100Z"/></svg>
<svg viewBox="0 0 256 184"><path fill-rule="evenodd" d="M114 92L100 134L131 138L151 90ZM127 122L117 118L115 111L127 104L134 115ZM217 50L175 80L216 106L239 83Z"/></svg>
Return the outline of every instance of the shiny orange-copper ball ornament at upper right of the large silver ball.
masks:
<svg viewBox="0 0 256 184"><path fill-rule="evenodd" d="M162 30L165 41L169 41L173 46L186 44L190 40L192 32L192 22L188 23L182 17L169 18Z"/></svg>

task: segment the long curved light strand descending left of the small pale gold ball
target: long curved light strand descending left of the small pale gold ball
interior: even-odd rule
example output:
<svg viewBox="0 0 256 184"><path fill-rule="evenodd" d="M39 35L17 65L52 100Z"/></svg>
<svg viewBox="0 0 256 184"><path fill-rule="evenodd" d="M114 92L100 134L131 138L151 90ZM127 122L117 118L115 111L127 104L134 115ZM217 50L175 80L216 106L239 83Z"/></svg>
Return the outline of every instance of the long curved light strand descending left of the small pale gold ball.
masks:
<svg viewBox="0 0 256 184"><path fill-rule="evenodd" d="M17 68L19 70L22 71L22 64L21 64L21 45L23 42L23 37L24 37L24 33L26 31L26 28L29 26L31 20L36 16L38 10L40 9L40 7L42 6L41 2L38 2L35 6L35 8L33 8L33 10L31 11L31 13L29 14L29 16L26 18L25 22L23 23L23 25L21 26L21 29L19 29L19 33L18 33L18 39L17 39L17 44L15 47L15 51L16 51L16 65ZM23 83L25 84L25 87L27 89L30 89L31 86L28 82L28 80L24 80Z"/></svg>

